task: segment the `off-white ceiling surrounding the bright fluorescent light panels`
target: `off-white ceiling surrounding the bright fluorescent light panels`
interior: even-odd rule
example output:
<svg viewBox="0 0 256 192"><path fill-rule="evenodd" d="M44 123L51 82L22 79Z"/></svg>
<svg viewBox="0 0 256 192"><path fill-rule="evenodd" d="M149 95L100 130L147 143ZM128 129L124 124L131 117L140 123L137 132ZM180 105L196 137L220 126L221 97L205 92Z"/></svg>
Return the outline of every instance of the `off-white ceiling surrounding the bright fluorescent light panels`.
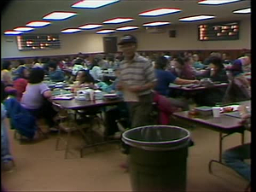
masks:
<svg viewBox="0 0 256 192"><path fill-rule="evenodd" d="M139 26L143 30L143 23L154 20L170 21L171 26L188 25L188 23L178 21L181 17L190 15L215 15L213 20L197 21L194 24L205 22L218 22L230 20L247 20L249 15L235 15L233 10L248 8L251 5L250 0L243 0L237 3L228 3L224 5L199 5L197 0L120 0L100 9L73 9L71 5L79 0L9 0L9 3L2 10L1 32L12 30L17 26L25 26L32 20L42 20L44 15L52 11L73 11L78 15L61 21L52 21L50 26L38 28L30 33L60 33L62 29L70 27L79 27L87 23L100 23L103 20L109 20L115 17L132 17L135 20L118 25L104 25L101 29L115 29L119 26ZM220 0L221 1L221 0ZM181 12L172 15L148 18L138 16L139 13L148 9L158 8L178 8ZM93 32L96 30L83 31Z"/></svg>

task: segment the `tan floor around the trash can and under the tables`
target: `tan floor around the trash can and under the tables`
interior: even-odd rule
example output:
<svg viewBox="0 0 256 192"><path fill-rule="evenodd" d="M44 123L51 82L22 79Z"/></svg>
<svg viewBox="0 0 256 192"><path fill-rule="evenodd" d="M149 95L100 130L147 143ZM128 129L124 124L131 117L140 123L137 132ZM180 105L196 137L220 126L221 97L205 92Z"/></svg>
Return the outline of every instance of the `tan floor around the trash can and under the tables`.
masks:
<svg viewBox="0 0 256 192"><path fill-rule="evenodd" d="M243 191L247 181L227 167L208 162L218 158L218 132L196 127L191 130L195 146L189 148L187 191ZM20 144L9 131L16 168L2 173L2 184L9 191L131 191L129 172L119 168L126 159L116 144L107 144L84 151L84 157L70 156L64 160L63 151L55 151L55 135L33 144ZM224 148L239 144L234 134L224 140ZM246 142L250 132L246 132Z"/></svg>

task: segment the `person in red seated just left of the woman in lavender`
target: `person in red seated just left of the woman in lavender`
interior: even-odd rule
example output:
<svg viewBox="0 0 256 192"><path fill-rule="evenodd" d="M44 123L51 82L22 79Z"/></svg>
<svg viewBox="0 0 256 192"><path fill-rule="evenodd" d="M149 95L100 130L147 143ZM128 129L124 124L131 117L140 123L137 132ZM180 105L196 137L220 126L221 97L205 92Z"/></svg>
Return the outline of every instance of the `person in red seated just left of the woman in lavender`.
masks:
<svg viewBox="0 0 256 192"><path fill-rule="evenodd" d="M14 81L14 88L17 90L16 98L20 102L23 93L26 90L26 84L28 79L29 71L26 67L20 66L16 70L16 78Z"/></svg>

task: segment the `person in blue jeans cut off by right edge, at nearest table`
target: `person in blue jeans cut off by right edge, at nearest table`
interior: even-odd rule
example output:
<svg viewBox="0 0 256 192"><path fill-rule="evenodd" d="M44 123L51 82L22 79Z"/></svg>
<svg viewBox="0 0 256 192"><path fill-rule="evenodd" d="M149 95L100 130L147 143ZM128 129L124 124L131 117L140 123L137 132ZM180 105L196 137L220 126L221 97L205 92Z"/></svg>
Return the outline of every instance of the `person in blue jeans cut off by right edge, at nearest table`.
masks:
<svg viewBox="0 0 256 192"><path fill-rule="evenodd" d="M241 124L245 125L247 130L251 131L251 115L249 113L241 116ZM229 148L224 151L222 156L225 165L230 166L241 177L251 181L251 166L244 160L251 159L251 143L242 144L235 148Z"/></svg>

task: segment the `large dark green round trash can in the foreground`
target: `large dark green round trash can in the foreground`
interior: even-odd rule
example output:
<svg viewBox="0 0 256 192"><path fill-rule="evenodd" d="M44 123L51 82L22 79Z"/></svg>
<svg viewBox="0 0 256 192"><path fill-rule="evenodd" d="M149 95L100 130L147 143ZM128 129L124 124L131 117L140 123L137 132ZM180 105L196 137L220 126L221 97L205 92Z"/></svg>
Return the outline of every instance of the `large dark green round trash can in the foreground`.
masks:
<svg viewBox="0 0 256 192"><path fill-rule="evenodd" d="M171 125L137 127L122 134L133 191L186 191L190 133Z"/></svg>

